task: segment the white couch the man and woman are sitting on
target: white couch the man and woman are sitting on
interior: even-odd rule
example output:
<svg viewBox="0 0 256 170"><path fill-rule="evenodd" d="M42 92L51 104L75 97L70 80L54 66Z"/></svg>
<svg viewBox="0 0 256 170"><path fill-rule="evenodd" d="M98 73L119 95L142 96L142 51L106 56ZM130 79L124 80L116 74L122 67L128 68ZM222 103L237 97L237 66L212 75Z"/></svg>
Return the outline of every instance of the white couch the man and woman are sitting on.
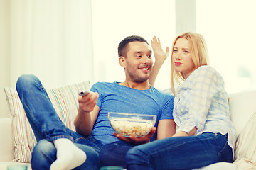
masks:
<svg viewBox="0 0 256 170"><path fill-rule="evenodd" d="M237 133L245 127L253 113L256 112L256 91L245 91L230 94L230 116ZM14 144L11 129L11 118L0 119L0 170L5 170L10 164L24 164L12 162L14 159ZM28 169L31 169L30 164ZM235 169L234 164L216 164L204 169ZM255 166L256 169L256 166Z"/></svg>

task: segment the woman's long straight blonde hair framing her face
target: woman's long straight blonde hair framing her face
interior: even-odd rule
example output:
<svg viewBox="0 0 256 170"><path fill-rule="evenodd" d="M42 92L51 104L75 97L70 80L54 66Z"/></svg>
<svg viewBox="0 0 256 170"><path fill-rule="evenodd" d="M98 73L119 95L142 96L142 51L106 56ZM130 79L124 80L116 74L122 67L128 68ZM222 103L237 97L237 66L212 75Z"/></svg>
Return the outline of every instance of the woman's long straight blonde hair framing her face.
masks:
<svg viewBox="0 0 256 170"><path fill-rule="evenodd" d="M172 62L173 59L173 51L174 45L179 38L185 38L188 40L190 45L191 55L193 63L195 64L196 68L201 67L202 65L208 65L208 52L206 47L206 41L204 40L203 36L198 33L183 33L178 35L174 39L174 43L172 45L172 53L171 53L171 91L174 93L175 96L175 89L174 89L174 81L177 84L181 85L181 81L184 81L185 78L181 72L176 72L174 69L174 63Z"/></svg>

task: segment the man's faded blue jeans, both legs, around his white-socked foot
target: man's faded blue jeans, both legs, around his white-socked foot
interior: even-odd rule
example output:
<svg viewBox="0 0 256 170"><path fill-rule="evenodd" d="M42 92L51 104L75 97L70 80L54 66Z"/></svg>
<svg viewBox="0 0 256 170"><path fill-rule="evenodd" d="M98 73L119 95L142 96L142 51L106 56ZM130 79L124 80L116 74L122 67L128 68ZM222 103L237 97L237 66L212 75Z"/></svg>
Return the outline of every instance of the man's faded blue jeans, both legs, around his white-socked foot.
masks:
<svg viewBox="0 0 256 170"><path fill-rule="evenodd" d="M33 75L22 75L16 83L37 144L33 149L32 169L49 169L56 159L53 140L68 138L87 154L86 161L75 169L100 169L102 143L91 136L82 136L67 128L58 117L41 81Z"/></svg>

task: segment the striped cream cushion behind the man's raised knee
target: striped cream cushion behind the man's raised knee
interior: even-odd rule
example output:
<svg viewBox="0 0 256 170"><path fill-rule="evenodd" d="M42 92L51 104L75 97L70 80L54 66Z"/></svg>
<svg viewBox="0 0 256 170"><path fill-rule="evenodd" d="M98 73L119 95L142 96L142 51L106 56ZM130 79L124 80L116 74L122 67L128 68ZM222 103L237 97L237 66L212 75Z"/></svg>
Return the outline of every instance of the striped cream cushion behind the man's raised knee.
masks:
<svg viewBox="0 0 256 170"><path fill-rule="evenodd" d="M55 111L63 120L63 123L75 130L73 120L78 112L78 91L89 89L89 81L70 86L63 86L58 89L46 90ZM14 135L14 161L31 162L31 152L36 145L36 137L33 134L22 103L16 89L5 87L6 101L12 116L12 129Z"/></svg>

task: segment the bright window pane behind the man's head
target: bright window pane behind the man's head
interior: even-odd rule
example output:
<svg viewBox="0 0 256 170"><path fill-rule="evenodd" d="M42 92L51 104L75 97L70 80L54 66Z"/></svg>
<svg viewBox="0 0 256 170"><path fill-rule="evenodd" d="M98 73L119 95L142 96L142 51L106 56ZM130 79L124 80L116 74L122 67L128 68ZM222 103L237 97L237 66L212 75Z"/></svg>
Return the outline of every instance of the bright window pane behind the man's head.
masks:
<svg viewBox="0 0 256 170"><path fill-rule="evenodd" d="M95 82L124 81L119 66L117 46L129 35L140 35L150 44L156 35L165 49L175 36L175 1L169 0L93 0L92 36L94 46ZM170 58L156 79L156 88L170 87Z"/></svg>

